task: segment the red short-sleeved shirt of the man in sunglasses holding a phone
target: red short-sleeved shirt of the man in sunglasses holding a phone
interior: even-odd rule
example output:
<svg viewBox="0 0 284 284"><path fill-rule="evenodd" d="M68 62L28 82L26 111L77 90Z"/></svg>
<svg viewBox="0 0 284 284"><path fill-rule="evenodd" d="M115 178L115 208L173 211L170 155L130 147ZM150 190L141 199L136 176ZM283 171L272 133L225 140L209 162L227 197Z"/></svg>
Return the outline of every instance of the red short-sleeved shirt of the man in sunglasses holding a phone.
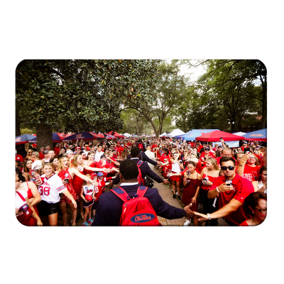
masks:
<svg viewBox="0 0 284 284"><path fill-rule="evenodd" d="M216 178L213 182L213 185L210 187L210 190L214 190L216 187L222 185L222 183L224 182L226 182L225 175ZM233 185L234 190L219 193L219 209L228 204L233 198L241 203L244 203L246 197L251 192L254 192L254 188L251 182L249 182L249 180L246 180L245 178L241 178L238 174L236 174L234 180L232 180L231 185ZM246 219L250 219L251 216L249 216L249 214L246 214L244 212L243 206L241 206L235 212L231 212L228 216L225 216L224 218L231 223L239 225Z"/></svg>

